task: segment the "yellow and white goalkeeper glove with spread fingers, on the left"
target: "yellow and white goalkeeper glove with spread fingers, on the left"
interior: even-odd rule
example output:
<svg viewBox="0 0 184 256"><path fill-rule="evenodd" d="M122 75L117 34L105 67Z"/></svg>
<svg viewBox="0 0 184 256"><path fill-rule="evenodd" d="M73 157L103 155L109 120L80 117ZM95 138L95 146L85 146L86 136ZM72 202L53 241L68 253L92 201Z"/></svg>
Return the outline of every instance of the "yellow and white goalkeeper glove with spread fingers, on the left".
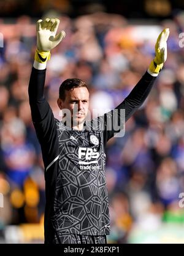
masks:
<svg viewBox="0 0 184 256"><path fill-rule="evenodd" d="M50 59L50 50L56 47L65 37L65 32L61 31L56 35L58 30L58 18L45 18L38 20L36 24L37 49L34 59L37 62L45 63Z"/></svg>

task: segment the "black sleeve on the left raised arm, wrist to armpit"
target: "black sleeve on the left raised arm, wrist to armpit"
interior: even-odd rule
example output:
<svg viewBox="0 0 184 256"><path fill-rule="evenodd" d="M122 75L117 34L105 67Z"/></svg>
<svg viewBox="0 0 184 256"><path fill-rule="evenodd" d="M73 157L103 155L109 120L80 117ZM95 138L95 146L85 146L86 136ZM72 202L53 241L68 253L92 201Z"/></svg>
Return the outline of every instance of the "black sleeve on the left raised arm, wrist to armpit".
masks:
<svg viewBox="0 0 184 256"><path fill-rule="evenodd" d="M45 169L58 156L56 124L52 109L44 97L46 70L33 67L29 80L28 94L31 116L39 140Z"/></svg>

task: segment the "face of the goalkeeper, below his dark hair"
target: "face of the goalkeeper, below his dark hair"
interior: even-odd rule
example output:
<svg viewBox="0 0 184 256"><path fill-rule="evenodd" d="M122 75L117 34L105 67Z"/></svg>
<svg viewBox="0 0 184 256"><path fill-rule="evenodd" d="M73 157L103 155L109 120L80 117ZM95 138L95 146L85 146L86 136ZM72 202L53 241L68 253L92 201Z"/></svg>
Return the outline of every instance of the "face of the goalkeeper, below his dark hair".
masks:
<svg viewBox="0 0 184 256"><path fill-rule="evenodd" d="M86 87L65 90L65 99L58 99L58 106L71 112L72 124L82 124L89 108L89 92ZM66 117L67 119L67 117Z"/></svg>

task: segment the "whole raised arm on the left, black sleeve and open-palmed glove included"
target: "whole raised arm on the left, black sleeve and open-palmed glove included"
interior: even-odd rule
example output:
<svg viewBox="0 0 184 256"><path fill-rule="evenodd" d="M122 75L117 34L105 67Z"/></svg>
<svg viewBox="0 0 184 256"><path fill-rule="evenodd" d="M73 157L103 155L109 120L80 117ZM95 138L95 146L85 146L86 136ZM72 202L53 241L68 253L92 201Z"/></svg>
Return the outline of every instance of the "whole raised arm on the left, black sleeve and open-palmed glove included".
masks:
<svg viewBox="0 0 184 256"><path fill-rule="evenodd" d="M50 50L57 46L65 36L64 31L61 31L56 36L58 26L58 19L46 18L37 22L37 49L28 87L31 116L42 148L45 169L56 158L57 154L55 150L57 148L55 145L55 118L50 105L44 97L44 84L47 61L50 59Z"/></svg>

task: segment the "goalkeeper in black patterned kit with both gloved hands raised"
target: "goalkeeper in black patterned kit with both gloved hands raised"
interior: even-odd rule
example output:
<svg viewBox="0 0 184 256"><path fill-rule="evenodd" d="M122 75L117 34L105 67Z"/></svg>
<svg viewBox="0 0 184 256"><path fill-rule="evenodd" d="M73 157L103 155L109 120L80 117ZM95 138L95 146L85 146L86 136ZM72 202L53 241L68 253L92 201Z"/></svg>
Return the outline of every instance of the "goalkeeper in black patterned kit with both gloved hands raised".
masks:
<svg viewBox="0 0 184 256"><path fill-rule="evenodd" d="M71 123L67 118L54 118L44 97L44 84L50 50L65 36L64 31L56 35L58 26L57 18L37 21L37 49L28 88L45 166L45 243L105 244L110 233L105 145L117 133L107 124L114 110L96 118L98 129L90 129L92 121L86 121L88 87L78 78L69 78L59 87L57 103L60 110L69 111ZM115 108L119 122L120 110L125 110L127 121L150 93L167 58L168 36L169 29L159 34L154 60L128 97Z"/></svg>

